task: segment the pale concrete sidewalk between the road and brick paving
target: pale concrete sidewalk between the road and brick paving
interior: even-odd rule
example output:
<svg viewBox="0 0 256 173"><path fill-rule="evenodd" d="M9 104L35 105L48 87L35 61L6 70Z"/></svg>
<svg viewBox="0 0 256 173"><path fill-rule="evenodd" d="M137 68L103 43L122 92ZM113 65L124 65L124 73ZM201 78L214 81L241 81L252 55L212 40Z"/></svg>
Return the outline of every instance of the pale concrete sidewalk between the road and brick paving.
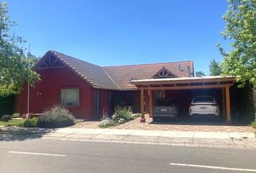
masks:
<svg viewBox="0 0 256 173"><path fill-rule="evenodd" d="M254 133L59 128L44 134L42 138L68 141L101 141L114 143L148 143L169 146L256 149Z"/></svg>

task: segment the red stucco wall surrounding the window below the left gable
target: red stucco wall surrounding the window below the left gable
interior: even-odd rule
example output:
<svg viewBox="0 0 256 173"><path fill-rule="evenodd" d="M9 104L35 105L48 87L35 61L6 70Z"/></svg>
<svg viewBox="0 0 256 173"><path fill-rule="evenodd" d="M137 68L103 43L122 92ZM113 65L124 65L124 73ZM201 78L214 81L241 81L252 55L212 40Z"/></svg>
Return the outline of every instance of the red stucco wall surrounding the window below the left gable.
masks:
<svg viewBox="0 0 256 173"><path fill-rule="evenodd" d="M48 107L59 105L61 102L61 88L78 87L80 89L79 107L68 107L75 117L93 118L93 87L69 68L54 68L38 70L41 81L30 87L30 112L40 113ZM38 95L38 92L42 93ZM17 98L20 114L27 112L27 85L20 97Z"/></svg>

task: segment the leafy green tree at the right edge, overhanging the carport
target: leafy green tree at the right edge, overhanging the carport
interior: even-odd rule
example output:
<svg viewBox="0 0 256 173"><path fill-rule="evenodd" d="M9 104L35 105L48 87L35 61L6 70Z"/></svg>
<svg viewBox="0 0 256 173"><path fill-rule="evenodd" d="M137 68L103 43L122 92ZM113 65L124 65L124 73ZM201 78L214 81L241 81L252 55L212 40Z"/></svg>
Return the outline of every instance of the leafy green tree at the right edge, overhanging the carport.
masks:
<svg viewBox="0 0 256 173"><path fill-rule="evenodd" d="M223 19L222 35L232 41L229 52L218 45L224 56L223 74L237 76L243 84L249 81L256 88L256 0L229 0Z"/></svg>

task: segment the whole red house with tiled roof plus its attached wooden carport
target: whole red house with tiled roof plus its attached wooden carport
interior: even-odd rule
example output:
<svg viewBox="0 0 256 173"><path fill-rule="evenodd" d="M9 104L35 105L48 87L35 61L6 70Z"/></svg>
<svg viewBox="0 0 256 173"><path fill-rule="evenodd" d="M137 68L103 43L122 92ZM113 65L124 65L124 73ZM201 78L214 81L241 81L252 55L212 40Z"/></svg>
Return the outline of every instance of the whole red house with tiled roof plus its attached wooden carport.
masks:
<svg viewBox="0 0 256 173"><path fill-rule="evenodd" d="M111 115L116 102L130 105L134 112L142 115L151 115L155 99L159 97L179 99L185 115L195 93L216 95L225 105L222 106L225 115L229 110L225 110L221 88L234 82L234 78L195 79L193 61L102 67L53 50L40 58L33 69L40 74L41 81L30 87L29 110L25 84L17 98L20 115L41 113L53 105L61 105L77 118L94 119ZM189 82L182 84L184 79ZM203 86L192 87L190 81ZM211 83L205 86L207 82ZM186 88L187 84L190 87Z"/></svg>

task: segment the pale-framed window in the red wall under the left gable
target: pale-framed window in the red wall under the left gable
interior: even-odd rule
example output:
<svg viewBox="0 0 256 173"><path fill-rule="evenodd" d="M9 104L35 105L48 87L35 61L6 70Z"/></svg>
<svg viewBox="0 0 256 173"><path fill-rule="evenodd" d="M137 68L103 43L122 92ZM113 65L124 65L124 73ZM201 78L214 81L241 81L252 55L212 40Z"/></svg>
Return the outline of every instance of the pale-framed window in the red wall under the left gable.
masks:
<svg viewBox="0 0 256 173"><path fill-rule="evenodd" d="M61 89L61 105L64 107L78 107L79 89Z"/></svg>

